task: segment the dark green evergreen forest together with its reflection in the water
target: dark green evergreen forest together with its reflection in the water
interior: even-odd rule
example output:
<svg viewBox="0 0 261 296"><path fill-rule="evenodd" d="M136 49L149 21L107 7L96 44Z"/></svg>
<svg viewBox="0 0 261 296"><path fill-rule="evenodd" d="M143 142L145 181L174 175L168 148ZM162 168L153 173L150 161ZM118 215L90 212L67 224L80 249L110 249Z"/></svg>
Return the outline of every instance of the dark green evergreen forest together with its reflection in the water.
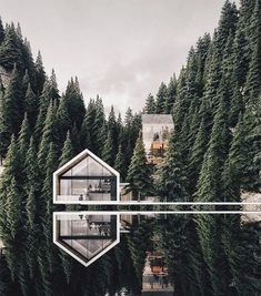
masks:
<svg viewBox="0 0 261 296"><path fill-rule="evenodd" d="M154 244L175 296L261 295L260 221L239 214L137 221L88 268L52 243L52 212L63 210L52 204L52 173L84 149L135 195L241 202L260 194L261 0L227 0L214 32L191 47L178 76L159 84L140 112L111 106L106 114L99 95L84 104L77 76L61 93L20 25L0 19L0 295L140 296ZM143 113L173 118L154 166L145 160Z"/></svg>

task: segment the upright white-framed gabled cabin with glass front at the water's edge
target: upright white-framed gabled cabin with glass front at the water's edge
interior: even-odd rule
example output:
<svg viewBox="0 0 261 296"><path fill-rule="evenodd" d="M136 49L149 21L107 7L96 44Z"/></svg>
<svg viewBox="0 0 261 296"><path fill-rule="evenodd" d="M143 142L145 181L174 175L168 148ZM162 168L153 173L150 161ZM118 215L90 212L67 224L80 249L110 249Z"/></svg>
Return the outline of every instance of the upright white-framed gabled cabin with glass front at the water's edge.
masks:
<svg viewBox="0 0 261 296"><path fill-rule="evenodd" d="M84 150L53 173L53 203L101 204L119 201L119 173Z"/></svg>

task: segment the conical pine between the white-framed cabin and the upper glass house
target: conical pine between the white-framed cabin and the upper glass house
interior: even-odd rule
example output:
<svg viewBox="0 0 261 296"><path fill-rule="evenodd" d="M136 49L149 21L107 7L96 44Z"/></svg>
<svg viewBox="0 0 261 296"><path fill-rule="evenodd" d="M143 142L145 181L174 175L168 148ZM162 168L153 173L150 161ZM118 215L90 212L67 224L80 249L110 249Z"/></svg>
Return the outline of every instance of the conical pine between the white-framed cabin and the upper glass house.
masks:
<svg viewBox="0 0 261 296"><path fill-rule="evenodd" d="M151 173L147 163L141 134L135 142L135 147L127 174L127 182L130 183L128 185L128 191L132 192L134 197L139 198L140 195L150 194L152 191Z"/></svg>

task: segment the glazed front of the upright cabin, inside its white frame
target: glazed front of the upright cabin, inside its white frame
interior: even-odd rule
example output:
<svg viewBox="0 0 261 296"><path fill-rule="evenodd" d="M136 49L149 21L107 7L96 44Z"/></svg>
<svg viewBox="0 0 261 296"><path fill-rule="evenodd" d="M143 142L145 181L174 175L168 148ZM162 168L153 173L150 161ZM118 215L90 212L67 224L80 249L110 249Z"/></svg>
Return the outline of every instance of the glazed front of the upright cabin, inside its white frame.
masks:
<svg viewBox="0 0 261 296"><path fill-rule="evenodd" d="M117 176L91 156L59 175L58 201L116 201Z"/></svg>

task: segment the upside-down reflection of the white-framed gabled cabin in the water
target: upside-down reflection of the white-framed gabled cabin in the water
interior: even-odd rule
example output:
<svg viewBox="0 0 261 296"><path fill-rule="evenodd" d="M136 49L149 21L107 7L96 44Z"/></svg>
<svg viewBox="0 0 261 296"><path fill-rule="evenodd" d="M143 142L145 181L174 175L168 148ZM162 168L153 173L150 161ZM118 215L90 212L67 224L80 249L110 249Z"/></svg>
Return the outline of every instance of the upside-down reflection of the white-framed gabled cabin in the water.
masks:
<svg viewBox="0 0 261 296"><path fill-rule="evenodd" d="M53 213L53 243L89 266L120 242L119 215L88 212Z"/></svg>

